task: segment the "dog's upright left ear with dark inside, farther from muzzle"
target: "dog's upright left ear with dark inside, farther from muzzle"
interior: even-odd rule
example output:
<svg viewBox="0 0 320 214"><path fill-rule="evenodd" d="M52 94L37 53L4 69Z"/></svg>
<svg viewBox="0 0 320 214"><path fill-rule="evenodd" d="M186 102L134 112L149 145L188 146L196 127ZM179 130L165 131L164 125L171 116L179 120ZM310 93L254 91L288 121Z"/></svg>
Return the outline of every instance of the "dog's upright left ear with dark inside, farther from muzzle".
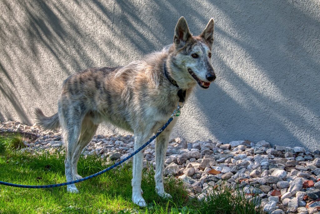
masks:
<svg viewBox="0 0 320 214"><path fill-rule="evenodd" d="M174 30L173 42L176 47L182 48L189 38L191 38L191 33L187 21L181 16Z"/></svg>

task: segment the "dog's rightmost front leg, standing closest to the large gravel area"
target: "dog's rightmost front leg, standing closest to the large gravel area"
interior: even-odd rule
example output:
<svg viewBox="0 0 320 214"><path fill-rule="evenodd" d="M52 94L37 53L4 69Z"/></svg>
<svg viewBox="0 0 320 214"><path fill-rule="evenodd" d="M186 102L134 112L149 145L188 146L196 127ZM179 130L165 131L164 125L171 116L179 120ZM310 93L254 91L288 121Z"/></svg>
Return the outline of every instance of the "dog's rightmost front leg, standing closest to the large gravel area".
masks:
<svg viewBox="0 0 320 214"><path fill-rule="evenodd" d="M164 159L168 148L170 133L171 130L168 127L156 138L156 192L159 196L162 196L164 198L171 197L169 193L166 193L164 191L163 184Z"/></svg>

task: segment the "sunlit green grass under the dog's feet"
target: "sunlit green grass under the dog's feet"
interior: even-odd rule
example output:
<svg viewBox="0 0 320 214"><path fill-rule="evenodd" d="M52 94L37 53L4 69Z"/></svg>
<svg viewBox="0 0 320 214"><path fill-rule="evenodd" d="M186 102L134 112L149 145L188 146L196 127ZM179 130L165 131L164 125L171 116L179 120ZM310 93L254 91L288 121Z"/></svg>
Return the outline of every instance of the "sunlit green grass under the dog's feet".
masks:
<svg viewBox="0 0 320 214"><path fill-rule="evenodd" d="M14 150L19 136L0 138L0 180L25 185L65 182L64 154L29 154ZM23 144L22 144L23 145ZM80 158L78 171L87 176L105 169L106 160L89 156ZM152 167L151 167L152 168ZM108 171L93 179L76 184L79 194L71 194L66 187L24 189L0 186L0 213L246 213L258 214L254 204L248 203L239 191L217 188L205 200L190 199L182 183L165 180L165 189L172 200L162 199L155 192L154 171L144 170L141 188L147 202L140 208L131 202L132 167Z"/></svg>

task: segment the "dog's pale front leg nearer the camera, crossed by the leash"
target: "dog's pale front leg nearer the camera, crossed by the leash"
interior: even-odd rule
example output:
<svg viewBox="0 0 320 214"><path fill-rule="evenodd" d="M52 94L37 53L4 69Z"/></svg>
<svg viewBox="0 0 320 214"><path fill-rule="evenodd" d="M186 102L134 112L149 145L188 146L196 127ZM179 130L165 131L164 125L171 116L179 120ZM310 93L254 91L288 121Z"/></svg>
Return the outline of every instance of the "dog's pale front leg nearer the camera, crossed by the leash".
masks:
<svg viewBox="0 0 320 214"><path fill-rule="evenodd" d="M145 134L135 133L134 137L134 150L139 149L145 141L148 140L148 136ZM143 167L143 152L144 149L133 156L133 169L132 169L132 201L138 204L140 207L145 207L146 202L142 198L141 180L142 180L142 167Z"/></svg>

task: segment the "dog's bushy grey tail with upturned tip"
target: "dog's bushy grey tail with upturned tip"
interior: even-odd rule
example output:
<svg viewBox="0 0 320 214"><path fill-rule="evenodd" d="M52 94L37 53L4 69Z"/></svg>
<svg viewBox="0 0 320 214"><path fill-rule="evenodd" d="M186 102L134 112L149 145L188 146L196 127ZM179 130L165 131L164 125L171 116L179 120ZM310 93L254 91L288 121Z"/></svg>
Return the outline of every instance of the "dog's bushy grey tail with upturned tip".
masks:
<svg viewBox="0 0 320 214"><path fill-rule="evenodd" d="M41 109L35 109L36 125L40 126L44 130L57 130L60 128L60 121L58 113L55 113L51 117L44 116Z"/></svg>

